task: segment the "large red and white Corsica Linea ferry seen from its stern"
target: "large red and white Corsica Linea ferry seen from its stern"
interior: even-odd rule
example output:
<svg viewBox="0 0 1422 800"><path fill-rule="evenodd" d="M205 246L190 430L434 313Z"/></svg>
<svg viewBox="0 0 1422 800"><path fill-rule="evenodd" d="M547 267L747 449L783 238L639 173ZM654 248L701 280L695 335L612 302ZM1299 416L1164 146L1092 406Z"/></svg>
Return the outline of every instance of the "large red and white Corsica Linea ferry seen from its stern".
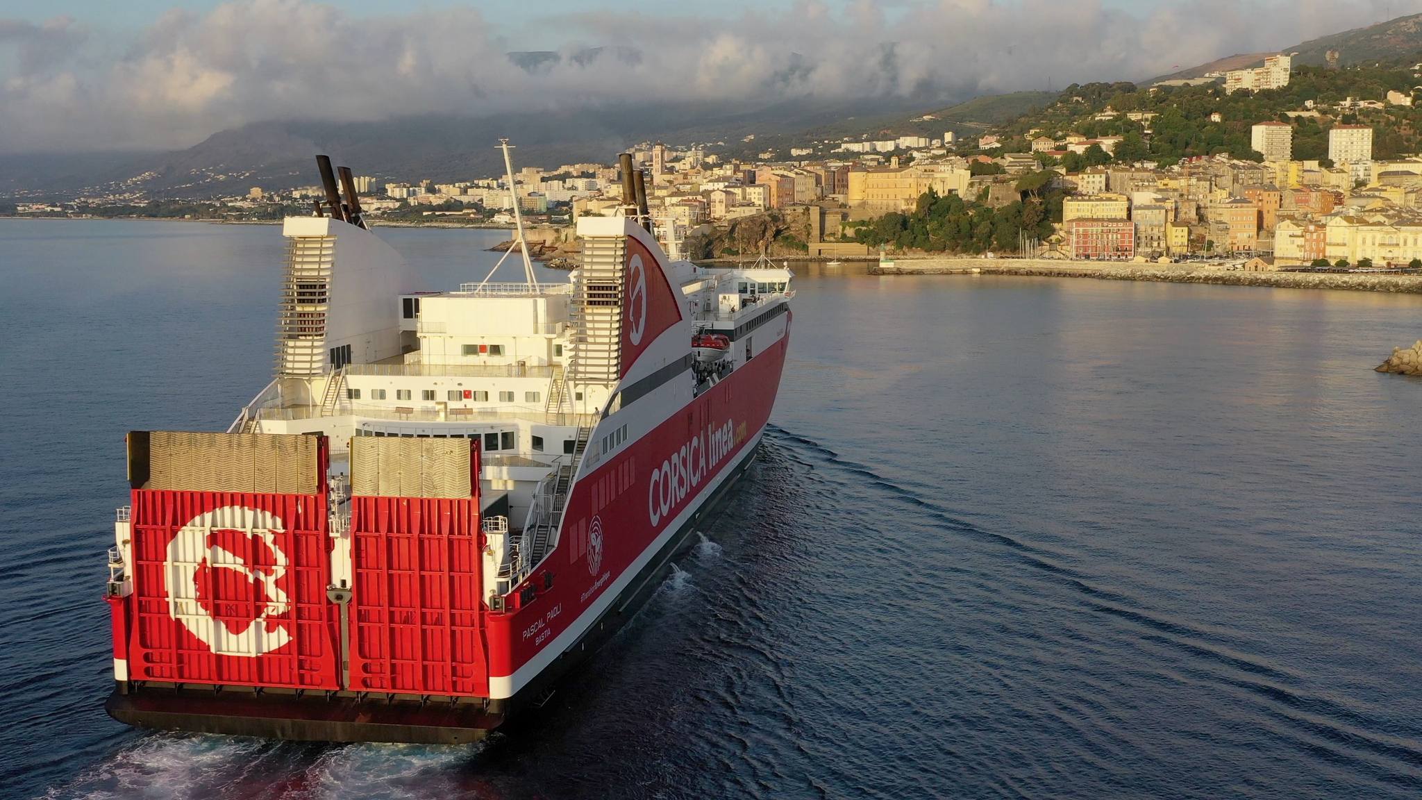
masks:
<svg viewBox="0 0 1422 800"><path fill-rule="evenodd" d="M327 201L283 226L272 383L226 433L128 436L107 707L475 740L609 636L745 470L791 275L671 260L629 201L577 221L569 283L525 249L525 282L421 292L319 162Z"/></svg>

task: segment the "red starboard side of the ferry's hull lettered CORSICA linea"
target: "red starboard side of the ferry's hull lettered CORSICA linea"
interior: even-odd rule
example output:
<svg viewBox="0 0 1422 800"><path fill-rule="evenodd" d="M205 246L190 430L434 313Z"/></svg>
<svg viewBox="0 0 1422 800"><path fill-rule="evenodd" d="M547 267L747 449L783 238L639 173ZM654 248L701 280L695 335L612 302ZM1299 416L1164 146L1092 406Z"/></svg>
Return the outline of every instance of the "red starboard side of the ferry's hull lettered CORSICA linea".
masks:
<svg viewBox="0 0 1422 800"><path fill-rule="evenodd" d="M675 532L678 517L715 494L724 470L769 420L788 346L786 323L774 346L579 478L557 548L529 579L538 596L489 614L491 696L518 693L539 672L520 669L570 646L600 616L599 601ZM543 589L545 574L552 588ZM570 639L559 641L565 633Z"/></svg>

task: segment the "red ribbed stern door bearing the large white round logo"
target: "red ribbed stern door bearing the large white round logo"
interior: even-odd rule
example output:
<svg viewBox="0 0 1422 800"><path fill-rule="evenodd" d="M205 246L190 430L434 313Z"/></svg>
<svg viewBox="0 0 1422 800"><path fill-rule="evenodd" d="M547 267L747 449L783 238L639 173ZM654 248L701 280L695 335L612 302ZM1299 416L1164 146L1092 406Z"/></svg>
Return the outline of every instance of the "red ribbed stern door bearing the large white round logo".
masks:
<svg viewBox="0 0 1422 800"><path fill-rule="evenodd" d="M340 688L326 495L134 490L132 502L127 631L114 619L131 680ZM208 532L228 508L264 515L263 532Z"/></svg>

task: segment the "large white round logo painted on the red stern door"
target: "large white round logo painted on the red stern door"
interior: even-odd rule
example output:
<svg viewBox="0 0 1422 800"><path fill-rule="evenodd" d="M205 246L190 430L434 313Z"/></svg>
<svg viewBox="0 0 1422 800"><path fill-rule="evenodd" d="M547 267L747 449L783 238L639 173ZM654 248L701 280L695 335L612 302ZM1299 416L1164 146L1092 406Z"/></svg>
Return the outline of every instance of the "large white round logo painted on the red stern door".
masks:
<svg viewBox="0 0 1422 800"><path fill-rule="evenodd" d="M274 514L243 505L223 505L189 520L168 542L168 559L164 562L168 615L218 655L257 658L284 648L292 641L292 633L286 628L267 625L269 618L283 615L289 608L286 592L277 586L287 568L286 554L276 541L276 534L283 531L282 520ZM240 555L209 538L219 532L228 538L253 540L253 548L262 547L270 552L272 564L247 564ZM203 567L208 568L205 589L199 588ZM226 619L213 616L208 608L213 604L210 594L215 585L233 585L232 581L216 577L223 569L236 572L239 581L246 579L259 589L257 604L253 604L256 616L245 626L239 621L237 631ZM229 599L222 598L222 605L242 605L228 602Z"/></svg>

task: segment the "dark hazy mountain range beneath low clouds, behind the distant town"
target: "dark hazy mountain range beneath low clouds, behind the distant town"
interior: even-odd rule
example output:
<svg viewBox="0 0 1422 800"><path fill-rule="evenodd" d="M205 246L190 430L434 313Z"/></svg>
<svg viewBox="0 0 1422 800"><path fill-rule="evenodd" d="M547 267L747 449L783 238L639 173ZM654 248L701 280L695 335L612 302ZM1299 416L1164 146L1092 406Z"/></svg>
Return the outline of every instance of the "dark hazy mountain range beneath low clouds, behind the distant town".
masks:
<svg viewBox="0 0 1422 800"><path fill-rule="evenodd" d="M538 56L525 56L526 68L539 68ZM0 196L73 196L82 189L212 196L246 192L250 186L284 189L317 181L311 159L317 152L330 154L336 164L348 165L357 175L469 179L503 172L496 145L505 137L518 148L513 158L519 165L609 164L614 154L641 141L739 145L751 134L759 144L765 138L825 127L849 125L860 131L866 124L903 120L910 111L941 100L617 104L498 117L253 122L173 152L0 157ZM84 167L77 167L80 162ZM17 168L7 169L7 165Z"/></svg>

